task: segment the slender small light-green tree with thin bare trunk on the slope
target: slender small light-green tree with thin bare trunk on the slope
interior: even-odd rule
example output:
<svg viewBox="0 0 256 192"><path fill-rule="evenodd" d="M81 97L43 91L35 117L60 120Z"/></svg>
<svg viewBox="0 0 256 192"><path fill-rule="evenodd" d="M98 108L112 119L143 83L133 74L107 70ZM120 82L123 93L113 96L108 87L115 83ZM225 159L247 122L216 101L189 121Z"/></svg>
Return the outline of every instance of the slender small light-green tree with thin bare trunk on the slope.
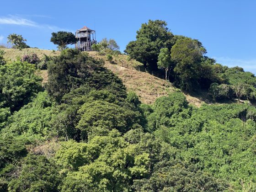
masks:
<svg viewBox="0 0 256 192"><path fill-rule="evenodd" d="M167 80L167 72L171 65L171 53L168 48L160 49L157 65L159 68L165 69L165 80Z"/></svg>

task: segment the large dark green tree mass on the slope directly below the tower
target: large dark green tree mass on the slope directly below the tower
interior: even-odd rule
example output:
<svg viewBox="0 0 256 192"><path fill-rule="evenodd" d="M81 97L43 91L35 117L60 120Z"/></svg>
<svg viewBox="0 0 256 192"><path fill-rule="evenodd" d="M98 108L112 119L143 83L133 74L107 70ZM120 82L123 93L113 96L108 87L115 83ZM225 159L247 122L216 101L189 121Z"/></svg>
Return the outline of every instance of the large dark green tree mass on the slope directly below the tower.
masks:
<svg viewBox="0 0 256 192"><path fill-rule="evenodd" d="M97 90L108 89L117 96L126 96L122 81L104 68L101 61L76 49L65 49L48 65L49 95L59 102L64 94L81 85L88 85Z"/></svg>

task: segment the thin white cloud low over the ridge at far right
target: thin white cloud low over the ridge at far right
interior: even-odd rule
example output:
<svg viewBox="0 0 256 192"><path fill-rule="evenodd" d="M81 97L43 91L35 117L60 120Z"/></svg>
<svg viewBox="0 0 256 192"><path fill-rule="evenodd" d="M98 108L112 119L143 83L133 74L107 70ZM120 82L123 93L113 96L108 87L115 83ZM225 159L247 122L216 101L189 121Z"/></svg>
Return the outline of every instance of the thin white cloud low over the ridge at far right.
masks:
<svg viewBox="0 0 256 192"><path fill-rule="evenodd" d="M217 63L227 65L228 67L239 66L256 74L256 59L234 59L229 57L213 57Z"/></svg>

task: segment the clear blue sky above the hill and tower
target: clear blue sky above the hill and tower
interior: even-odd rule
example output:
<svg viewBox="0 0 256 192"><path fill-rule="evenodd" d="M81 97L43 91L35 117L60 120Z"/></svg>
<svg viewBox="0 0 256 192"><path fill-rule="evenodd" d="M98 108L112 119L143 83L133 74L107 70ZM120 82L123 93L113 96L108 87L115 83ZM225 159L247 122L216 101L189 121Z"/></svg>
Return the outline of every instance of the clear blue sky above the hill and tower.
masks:
<svg viewBox="0 0 256 192"><path fill-rule="evenodd" d="M207 56L256 74L256 0L11 0L1 2L0 43L22 34L31 47L56 49L52 32L83 26L114 38L121 51L141 23L165 20L174 34L196 38Z"/></svg>

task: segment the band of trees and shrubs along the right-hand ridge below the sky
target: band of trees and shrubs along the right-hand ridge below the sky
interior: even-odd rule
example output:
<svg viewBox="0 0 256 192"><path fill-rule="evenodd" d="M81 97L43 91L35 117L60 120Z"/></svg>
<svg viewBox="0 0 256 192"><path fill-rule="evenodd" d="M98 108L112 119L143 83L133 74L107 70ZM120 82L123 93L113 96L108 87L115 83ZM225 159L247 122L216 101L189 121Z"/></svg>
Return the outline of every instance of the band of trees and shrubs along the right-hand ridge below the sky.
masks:
<svg viewBox="0 0 256 192"><path fill-rule="evenodd" d="M255 75L240 67L217 64L205 56L201 42L173 35L165 21L143 23L124 52L146 68L163 69L166 79L183 91L206 89L216 100L256 100Z"/></svg>

